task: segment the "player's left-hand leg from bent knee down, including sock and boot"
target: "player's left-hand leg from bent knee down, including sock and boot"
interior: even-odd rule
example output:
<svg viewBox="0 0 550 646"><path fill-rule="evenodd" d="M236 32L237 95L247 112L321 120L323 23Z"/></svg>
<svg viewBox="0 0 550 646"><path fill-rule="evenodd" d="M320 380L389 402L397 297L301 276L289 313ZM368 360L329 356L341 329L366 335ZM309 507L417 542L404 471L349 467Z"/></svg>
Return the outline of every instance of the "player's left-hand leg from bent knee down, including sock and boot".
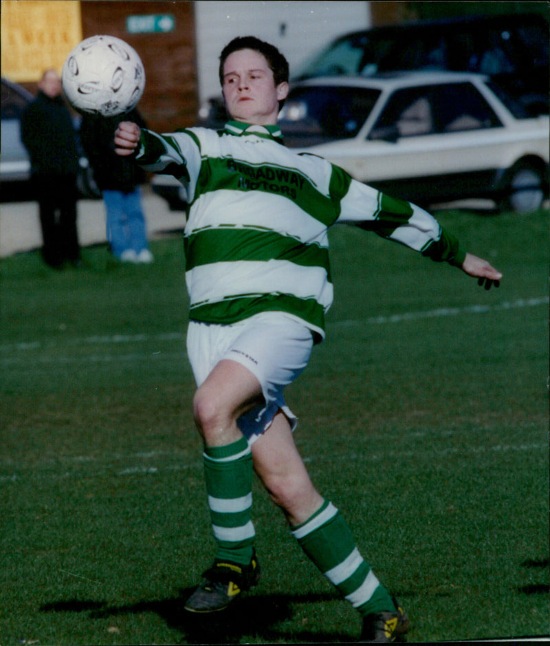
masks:
<svg viewBox="0 0 550 646"><path fill-rule="evenodd" d="M217 553L186 610L223 610L256 585L260 568L252 524L252 452L236 420L263 401L261 385L240 363L221 360L197 390L193 413L204 440L204 473Z"/></svg>

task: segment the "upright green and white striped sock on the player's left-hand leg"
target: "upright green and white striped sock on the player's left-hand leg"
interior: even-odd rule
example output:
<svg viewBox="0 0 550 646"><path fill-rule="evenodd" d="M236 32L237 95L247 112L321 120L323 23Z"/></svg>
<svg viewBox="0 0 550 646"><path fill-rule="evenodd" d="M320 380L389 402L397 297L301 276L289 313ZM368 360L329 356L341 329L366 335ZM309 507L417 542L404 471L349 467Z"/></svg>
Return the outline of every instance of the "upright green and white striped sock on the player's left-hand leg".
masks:
<svg viewBox="0 0 550 646"><path fill-rule="evenodd" d="M252 451L245 438L203 453L216 559L248 565L254 546Z"/></svg>

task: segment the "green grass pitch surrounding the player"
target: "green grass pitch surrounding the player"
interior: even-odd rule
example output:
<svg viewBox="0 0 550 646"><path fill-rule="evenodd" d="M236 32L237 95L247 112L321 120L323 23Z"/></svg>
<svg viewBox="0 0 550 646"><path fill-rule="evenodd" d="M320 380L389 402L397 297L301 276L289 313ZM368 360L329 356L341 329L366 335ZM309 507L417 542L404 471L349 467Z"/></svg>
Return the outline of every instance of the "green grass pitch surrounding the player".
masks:
<svg viewBox="0 0 550 646"><path fill-rule="evenodd" d="M406 606L410 641L549 634L548 228L445 211L499 290L333 230L327 341L289 387L320 491ZM256 486L263 579L182 601L212 557L179 237L153 266L1 263L0 643L349 642L360 620Z"/></svg>

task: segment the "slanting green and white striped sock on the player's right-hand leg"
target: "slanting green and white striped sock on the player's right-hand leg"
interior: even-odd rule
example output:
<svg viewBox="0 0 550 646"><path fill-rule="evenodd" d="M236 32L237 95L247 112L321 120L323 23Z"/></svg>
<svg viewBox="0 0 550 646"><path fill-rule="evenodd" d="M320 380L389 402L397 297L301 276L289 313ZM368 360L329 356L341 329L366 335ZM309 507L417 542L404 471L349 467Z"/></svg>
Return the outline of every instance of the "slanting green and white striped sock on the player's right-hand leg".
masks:
<svg viewBox="0 0 550 646"><path fill-rule="evenodd" d="M291 530L309 559L363 616L394 610L391 596L363 560L331 502L325 500L311 518Z"/></svg>

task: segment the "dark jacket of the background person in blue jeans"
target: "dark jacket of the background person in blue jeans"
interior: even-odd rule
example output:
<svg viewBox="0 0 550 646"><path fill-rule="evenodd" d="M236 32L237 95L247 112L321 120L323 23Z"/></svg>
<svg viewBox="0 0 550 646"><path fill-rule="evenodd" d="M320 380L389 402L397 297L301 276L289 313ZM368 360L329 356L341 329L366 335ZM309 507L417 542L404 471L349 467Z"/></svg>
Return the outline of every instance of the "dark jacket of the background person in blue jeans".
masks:
<svg viewBox="0 0 550 646"><path fill-rule="evenodd" d="M80 126L80 141L102 191L129 192L145 181L140 166L115 153L114 134L121 121L133 121L140 128L145 127L135 109L113 117L85 114Z"/></svg>

